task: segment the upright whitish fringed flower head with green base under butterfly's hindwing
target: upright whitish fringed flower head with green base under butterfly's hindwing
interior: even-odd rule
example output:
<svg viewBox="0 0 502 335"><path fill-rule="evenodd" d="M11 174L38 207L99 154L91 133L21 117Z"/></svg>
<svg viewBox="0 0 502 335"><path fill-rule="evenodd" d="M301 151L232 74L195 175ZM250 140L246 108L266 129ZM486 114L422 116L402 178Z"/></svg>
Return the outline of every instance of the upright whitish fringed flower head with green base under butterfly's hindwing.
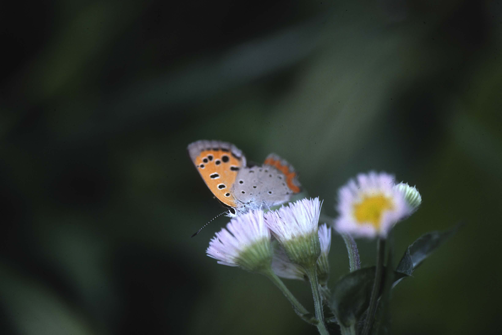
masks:
<svg viewBox="0 0 502 335"><path fill-rule="evenodd" d="M302 199L265 214L267 226L288 258L304 268L311 268L321 253L317 235L320 212L321 203L315 198Z"/></svg>

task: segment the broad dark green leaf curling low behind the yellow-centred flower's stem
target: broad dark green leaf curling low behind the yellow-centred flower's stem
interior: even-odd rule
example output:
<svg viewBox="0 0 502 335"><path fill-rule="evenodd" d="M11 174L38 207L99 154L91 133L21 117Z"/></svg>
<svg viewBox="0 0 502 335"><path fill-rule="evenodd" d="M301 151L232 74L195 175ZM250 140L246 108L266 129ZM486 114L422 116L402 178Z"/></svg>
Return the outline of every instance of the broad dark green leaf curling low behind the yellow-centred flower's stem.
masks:
<svg viewBox="0 0 502 335"><path fill-rule="evenodd" d="M347 274L335 284L331 294L330 307L338 322L345 327L355 324L368 308L374 276L374 266L362 268ZM394 272L394 281L404 276L403 273ZM385 273L382 287L384 282ZM382 293L382 287L380 293Z"/></svg>

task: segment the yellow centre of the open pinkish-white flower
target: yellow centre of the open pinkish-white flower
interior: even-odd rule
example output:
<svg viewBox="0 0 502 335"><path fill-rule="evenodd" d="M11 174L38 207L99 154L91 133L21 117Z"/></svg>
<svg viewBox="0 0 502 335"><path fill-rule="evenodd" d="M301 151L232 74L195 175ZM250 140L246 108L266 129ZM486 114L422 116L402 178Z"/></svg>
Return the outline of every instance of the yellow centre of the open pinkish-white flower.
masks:
<svg viewBox="0 0 502 335"><path fill-rule="evenodd" d="M376 229L380 228L382 213L394 209L394 203L390 198L380 194L364 197L362 201L354 205L354 216L358 223L370 223Z"/></svg>

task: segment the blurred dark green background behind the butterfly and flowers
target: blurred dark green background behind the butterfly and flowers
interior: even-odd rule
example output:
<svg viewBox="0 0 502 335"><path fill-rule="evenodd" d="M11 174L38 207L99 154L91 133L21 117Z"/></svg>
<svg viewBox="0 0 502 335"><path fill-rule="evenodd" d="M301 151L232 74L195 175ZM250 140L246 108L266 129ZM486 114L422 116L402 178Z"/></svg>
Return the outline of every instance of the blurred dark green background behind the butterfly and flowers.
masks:
<svg viewBox="0 0 502 335"><path fill-rule="evenodd" d="M466 225L393 291L393 333L499 331L502 2L21 0L0 25L0 333L316 333L205 255L227 218L190 238L222 212L198 139L287 158L331 217L359 172L417 185L396 254Z"/></svg>

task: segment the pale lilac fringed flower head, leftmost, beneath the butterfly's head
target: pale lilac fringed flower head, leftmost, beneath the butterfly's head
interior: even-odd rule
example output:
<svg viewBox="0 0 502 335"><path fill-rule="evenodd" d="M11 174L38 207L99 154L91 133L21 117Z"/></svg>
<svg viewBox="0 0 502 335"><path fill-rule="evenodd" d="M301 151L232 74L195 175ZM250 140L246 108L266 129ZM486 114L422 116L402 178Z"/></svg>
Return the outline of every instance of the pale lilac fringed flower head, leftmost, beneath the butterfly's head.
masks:
<svg viewBox="0 0 502 335"><path fill-rule="evenodd" d="M206 254L218 264L240 266L248 271L270 270L273 249L262 210L242 214L216 233Z"/></svg>

